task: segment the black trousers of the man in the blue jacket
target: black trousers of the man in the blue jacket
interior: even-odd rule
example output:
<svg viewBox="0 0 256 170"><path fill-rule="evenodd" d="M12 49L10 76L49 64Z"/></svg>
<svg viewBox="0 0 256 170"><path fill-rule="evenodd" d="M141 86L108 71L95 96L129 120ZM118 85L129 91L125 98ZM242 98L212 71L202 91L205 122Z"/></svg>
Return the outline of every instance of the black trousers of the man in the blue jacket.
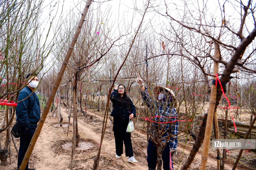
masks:
<svg viewBox="0 0 256 170"><path fill-rule="evenodd" d="M25 156L25 153L28 150L29 143L35 133L36 126L31 125L28 130L23 129L22 134L20 136L20 149L19 149L19 155L18 155L18 169L20 168L20 165L22 163L22 160ZM28 164L26 166L26 169L28 170Z"/></svg>

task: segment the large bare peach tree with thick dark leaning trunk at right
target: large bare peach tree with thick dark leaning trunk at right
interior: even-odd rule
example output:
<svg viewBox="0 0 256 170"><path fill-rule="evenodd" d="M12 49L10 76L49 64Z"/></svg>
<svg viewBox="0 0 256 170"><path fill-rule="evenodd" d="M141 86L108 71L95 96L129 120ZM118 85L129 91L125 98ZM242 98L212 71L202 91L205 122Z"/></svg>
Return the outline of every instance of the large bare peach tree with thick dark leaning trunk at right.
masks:
<svg viewBox="0 0 256 170"><path fill-rule="evenodd" d="M251 65L255 63L255 59L252 57L255 54L255 3L251 0L235 3L225 1L214 4L184 2L183 5L180 5L178 2L167 4L167 1L162 3L165 4L165 9L161 9L164 12L160 9L156 9L156 11L170 21L169 28L179 40L176 41L179 44L177 52L202 70L206 83L209 83L207 76L215 77L212 74L213 61L220 63L219 75L224 91L226 90L224 85L228 83L232 73L240 70L255 74L256 70ZM212 11L215 11L212 10L213 8L219 11L220 15L213 13ZM175 12L180 12L180 14L174 17L173 13ZM217 46L219 59L214 55L213 44ZM215 110L221 96L222 91L218 86ZM202 144L207 116L204 118L196 143L182 169L189 167ZM204 150L205 153L208 153L208 146L204 146ZM207 156L205 160L207 160ZM202 165L201 169L205 169L205 166Z"/></svg>

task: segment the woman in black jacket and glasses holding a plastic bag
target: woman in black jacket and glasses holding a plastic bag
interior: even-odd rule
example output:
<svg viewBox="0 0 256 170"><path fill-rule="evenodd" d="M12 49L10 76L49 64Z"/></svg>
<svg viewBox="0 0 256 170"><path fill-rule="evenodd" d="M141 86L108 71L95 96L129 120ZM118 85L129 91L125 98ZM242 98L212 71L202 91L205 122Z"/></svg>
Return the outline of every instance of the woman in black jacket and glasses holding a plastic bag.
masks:
<svg viewBox="0 0 256 170"><path fill-rule="evenodd" d="M137 163L138 161L133 156L131 133L126 132L129 120L136 117L136 109L132 100L126 96L126 90L123 84L114 87L110 100L114 107L110 116L114 117L113 129L116 143L116 158L121 158L124 142L125 156L129 156L128 162Z"/></svg>

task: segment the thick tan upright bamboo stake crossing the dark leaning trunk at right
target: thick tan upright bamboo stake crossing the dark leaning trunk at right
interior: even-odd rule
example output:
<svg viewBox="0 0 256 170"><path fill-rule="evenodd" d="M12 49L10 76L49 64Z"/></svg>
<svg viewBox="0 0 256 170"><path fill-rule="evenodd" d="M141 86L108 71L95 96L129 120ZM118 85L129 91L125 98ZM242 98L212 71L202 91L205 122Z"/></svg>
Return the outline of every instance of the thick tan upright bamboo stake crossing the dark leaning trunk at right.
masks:
<svg viewBox="0 0 256 170"><path fill-rule="evenodd" d="M217 44L217 42L215 42L215 46L214 46L214 56L217 59L220 56L220 47L219 47L219 44ZM219 69L219 63L214 61L213 75L218 74L218 69ZM213 80L216 80L216 77L213 77ZM211 133L212 133L213 115L214 115L215 106L216 106L216 97L217 97L217 88L215 87L215 84L212 84L210 104L209 104L207 122L206 122L205 133L204 133L204 147L202 152L201 170L206 170L208 150L209 150Z"/></svg>

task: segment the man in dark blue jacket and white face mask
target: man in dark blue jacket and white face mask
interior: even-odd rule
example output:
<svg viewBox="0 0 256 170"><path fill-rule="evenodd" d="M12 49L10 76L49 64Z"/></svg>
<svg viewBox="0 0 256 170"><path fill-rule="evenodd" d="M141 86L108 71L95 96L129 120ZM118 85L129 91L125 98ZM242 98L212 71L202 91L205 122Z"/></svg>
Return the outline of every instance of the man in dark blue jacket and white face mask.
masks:
<svg viewBox="0 0 256 170"><path fill-rule="evenodd" d="M31 74L28 74L26 79L30 76ZM37 123L40 120L40 103L36 93L33 92L38 86L38 83L39 81L37 76L32 76L30 80L28 80L28 86L20 91L18 98L18 102L22 102L19 102L16 108L16 122L21 124L23 127L20 136L18 169L20 168L29 143L35 133ZM26 166L26 170L28 170L28 164Z"/></svg>

